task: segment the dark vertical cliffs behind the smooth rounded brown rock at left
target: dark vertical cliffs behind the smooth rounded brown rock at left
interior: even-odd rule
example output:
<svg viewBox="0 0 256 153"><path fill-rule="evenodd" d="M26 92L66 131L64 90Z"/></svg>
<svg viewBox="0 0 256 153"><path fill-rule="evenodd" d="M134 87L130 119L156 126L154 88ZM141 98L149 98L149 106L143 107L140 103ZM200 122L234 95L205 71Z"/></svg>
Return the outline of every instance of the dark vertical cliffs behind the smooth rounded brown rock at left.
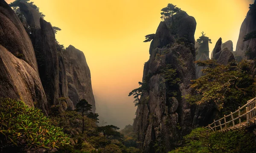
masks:
<svg viewBox="0 0 256 153"><path fill-rule="evenodd" d="M35 49L48 108L61 105L65 110L74 110L79 100L86 99L93 105L95 113L90 70L84 54L73 46L64 51L55 41L51 24L42 19L41 14L28 3L18 4L27 24L32 27L28 31Z"/></svg>

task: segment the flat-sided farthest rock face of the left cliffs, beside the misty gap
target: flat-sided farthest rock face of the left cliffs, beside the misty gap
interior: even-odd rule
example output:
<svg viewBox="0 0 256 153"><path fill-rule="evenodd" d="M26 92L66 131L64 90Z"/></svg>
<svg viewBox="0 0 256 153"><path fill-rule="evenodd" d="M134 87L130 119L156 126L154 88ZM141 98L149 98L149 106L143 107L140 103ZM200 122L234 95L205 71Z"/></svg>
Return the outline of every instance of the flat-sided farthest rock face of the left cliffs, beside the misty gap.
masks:
<svg viewBox="0 0 256 153"><path fill-rule="evenodd" d="M93 105L95 113L95 99L91 85L90 69L87 65L84 53L72 45L63 52L66 66L68 95L74 105L81 99L86 99Z"/></svg>

